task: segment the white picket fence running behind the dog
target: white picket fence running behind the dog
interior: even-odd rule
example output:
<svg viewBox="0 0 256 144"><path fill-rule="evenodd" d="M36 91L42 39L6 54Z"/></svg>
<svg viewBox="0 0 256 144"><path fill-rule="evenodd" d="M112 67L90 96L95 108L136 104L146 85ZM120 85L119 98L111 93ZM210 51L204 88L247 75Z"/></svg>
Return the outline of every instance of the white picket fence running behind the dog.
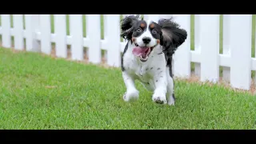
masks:
<svg viewBox="0 0 256 144"><path fill-rule="evenodd" d="M144 19L158 20L170 15L144 14ZM189 78L190 62L195 62L195 73L202 81L218 82L219 66L223 68L223 78L234 88L250 89L251 71L256 70L256 58L251 57L252 15L224 15L223 54L219 54L218 14L195 15L194 50L190 50L190 14L174 14L174 20L188 32L186 42L180 46L174 57L174 74ZM26 29L23 29L25 19ZM11 47L14 36L14 49L50 54L55 43L56 56L67 57L67 45L71 46L71 58L82 60L83 47L88 48L89 61L100 63L101 50L106 50L106 62L110 66L121 65L121 52L126 42L120 41L120 15L104 15L104 39L101 39L101 15L86 14L86 27L82 25L82 14L70 14L70 34L66 34L66 15L54 14L54 34L51 33L50 14L14 14L14 27L10 26L10 15L1 15L0 34L2 46ZM86 38L83 29L86 28ZM26 39L26 46L24 40ZM254 50L256 51L256 50ZM256 55L256 54L255 54Z"/></svg>

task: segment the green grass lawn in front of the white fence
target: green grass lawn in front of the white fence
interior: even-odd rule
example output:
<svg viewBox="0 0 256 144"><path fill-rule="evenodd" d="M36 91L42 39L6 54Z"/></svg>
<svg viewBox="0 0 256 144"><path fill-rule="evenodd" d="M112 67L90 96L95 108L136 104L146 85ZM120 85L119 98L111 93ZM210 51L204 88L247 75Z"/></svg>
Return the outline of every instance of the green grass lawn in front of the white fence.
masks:
<svg viewBox="0 0 256 144"><path fill-rule="evenodd" d="M256 97L175 82L176 106L122 100L121 70L0 48L0 129L256 129ZM48 87L47 87L48 86Z"/></svg>

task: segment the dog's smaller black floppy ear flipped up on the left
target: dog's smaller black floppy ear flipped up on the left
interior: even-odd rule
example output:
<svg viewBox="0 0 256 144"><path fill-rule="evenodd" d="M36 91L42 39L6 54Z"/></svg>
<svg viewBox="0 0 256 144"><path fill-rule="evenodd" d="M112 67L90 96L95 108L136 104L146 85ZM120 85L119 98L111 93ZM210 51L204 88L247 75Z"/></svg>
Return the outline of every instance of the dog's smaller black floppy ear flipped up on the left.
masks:
<svg viewBox="0 0 256 144"><path fill-rule="evenodd" d="M130 40L134 28L134 23L138 22L138 15L128 15L121 20L121 37Z"/></svg>

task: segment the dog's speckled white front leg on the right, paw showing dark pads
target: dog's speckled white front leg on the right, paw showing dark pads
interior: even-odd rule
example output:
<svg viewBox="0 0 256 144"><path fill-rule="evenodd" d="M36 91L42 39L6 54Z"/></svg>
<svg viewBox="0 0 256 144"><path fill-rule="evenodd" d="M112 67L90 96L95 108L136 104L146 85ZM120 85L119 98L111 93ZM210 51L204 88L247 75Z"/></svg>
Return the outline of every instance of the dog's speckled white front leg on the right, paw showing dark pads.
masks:
<svg viewBox="0 0 256 144"><path fill-rule="evenodd" d="M167 85L167 78L165 74L166 70L158 70L158 74L154 75L154 94L152 100L156 103L166 104L166 85Z"/></svg>

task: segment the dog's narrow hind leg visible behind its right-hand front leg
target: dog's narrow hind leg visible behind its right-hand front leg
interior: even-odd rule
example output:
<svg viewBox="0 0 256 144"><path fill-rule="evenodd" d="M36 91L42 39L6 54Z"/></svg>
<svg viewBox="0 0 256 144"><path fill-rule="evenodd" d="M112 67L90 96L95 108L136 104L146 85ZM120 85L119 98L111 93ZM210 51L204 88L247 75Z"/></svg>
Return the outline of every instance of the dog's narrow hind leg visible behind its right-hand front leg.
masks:
<svg viewBox="0 0 256 144"><path fill-rule="evenodd" d="M175 103L175 96L174 96L174 79L170 70L169 66L166 66L166 77L167 77L167 101L168 105L172 106Z"/></svg>

